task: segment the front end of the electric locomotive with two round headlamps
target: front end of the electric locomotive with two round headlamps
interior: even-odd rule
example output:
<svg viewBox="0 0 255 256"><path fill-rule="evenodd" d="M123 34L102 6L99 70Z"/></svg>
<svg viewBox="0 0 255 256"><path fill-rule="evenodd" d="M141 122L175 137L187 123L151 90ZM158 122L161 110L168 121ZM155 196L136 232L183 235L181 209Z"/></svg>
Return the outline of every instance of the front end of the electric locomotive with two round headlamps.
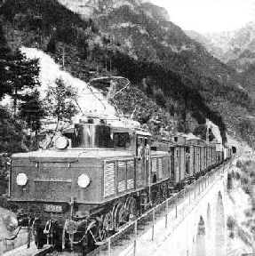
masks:
<svg viewBox="0 0 255 256"><path fill-rule="evenodd" d="M58 233L54 237L60 238L67 220L72 220L76 215L89 216L86 209L79 213L81 207L75 201L84 203L86 198L93 198L94 202L100 200L99 193L95 192L100 190L97 182L91 184L92 180L99 178L100 161L92 154L83 155L86 155L84 150L53 149L12 157L11 202L19 205L21 226L28 223L36 225L36 229L33 228L36 230L38 247L53 232ZM85 222L83 226L87 225ZM65 243L61 240L48 242Z"/></svg>

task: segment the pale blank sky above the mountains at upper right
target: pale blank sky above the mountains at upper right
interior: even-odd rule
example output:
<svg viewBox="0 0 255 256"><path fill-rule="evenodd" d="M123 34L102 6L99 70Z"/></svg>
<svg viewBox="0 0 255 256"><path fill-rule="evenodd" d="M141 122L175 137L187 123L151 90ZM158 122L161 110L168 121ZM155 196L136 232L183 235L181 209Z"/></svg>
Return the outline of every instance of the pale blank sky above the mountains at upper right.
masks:
<svg viewBox="0 0 255 256"><path fill-rule="evenodd" d="M255 20L255 0L151 0L183 30L200 33L241 28Z"/></svg>

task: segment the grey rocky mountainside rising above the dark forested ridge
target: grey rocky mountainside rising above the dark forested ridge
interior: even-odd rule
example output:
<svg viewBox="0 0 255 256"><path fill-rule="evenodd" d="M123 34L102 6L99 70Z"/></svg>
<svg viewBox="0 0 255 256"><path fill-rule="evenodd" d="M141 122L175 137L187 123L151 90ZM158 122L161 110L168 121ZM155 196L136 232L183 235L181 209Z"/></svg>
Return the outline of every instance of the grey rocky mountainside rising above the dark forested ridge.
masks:
<svg viewBox="0 0 255 256"><path fill-rule="evenodd" d="M235 72L173 24L163 7L138 0L91 0L84 1L83 7L78 0L60 3L83 18L90 17L100 31L116 36L133 58L161 62L182 75L195 72L217 80L220 76L224 81Z"/></svg>

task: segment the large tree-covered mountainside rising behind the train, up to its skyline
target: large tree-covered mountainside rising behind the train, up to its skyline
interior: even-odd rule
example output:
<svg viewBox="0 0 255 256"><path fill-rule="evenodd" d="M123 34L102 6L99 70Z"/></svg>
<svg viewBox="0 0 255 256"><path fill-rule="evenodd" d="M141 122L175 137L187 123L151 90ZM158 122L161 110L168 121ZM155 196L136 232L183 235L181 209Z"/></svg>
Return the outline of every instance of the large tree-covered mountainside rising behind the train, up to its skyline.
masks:
<svg viewBox="0 0 255 256"><path fill-rule="evenodd" d="M119 108L131 114L130 106L137 106L135 118L150 129L158 118L157 126L197 133L209 118L226 141L226 118L216 103L229 102L227 106L238 106L247 115L253 111L249 93L229 79L235 70L213 58L166 15L157 20L161 9L137 2L133 5L139 8L124 4L108 12L97 9L82 19L57 0L6 0L0 9L1 26L12 52L20 45L42 49L86 82L94 76L129 78L130 94L124 96L134 100L118 99ZM155 102L147 106L152 111L144 111L143 99ZM237 134L238 125L232 127Z"/></svg>

